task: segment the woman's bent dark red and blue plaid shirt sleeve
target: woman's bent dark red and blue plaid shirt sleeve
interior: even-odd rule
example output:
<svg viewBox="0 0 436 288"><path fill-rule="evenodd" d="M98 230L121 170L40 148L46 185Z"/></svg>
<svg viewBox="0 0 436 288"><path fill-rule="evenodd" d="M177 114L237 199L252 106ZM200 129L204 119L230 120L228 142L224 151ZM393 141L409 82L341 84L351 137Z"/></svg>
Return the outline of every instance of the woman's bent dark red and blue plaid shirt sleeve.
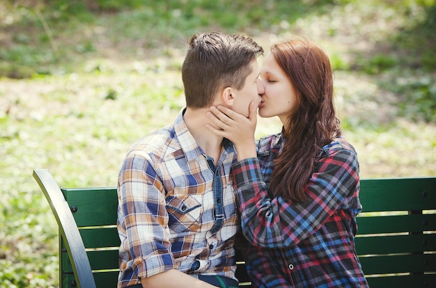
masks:
<svg viewBox="0 0 436 288"><path fill-rule="evenodd" d="M256 158L233 165L242 232L256 246L283 248L297 245L316 232L359 185L357 155L336 150L320 159L306 183L308 200L293 203L281 196L269 198Z"/></svg>

